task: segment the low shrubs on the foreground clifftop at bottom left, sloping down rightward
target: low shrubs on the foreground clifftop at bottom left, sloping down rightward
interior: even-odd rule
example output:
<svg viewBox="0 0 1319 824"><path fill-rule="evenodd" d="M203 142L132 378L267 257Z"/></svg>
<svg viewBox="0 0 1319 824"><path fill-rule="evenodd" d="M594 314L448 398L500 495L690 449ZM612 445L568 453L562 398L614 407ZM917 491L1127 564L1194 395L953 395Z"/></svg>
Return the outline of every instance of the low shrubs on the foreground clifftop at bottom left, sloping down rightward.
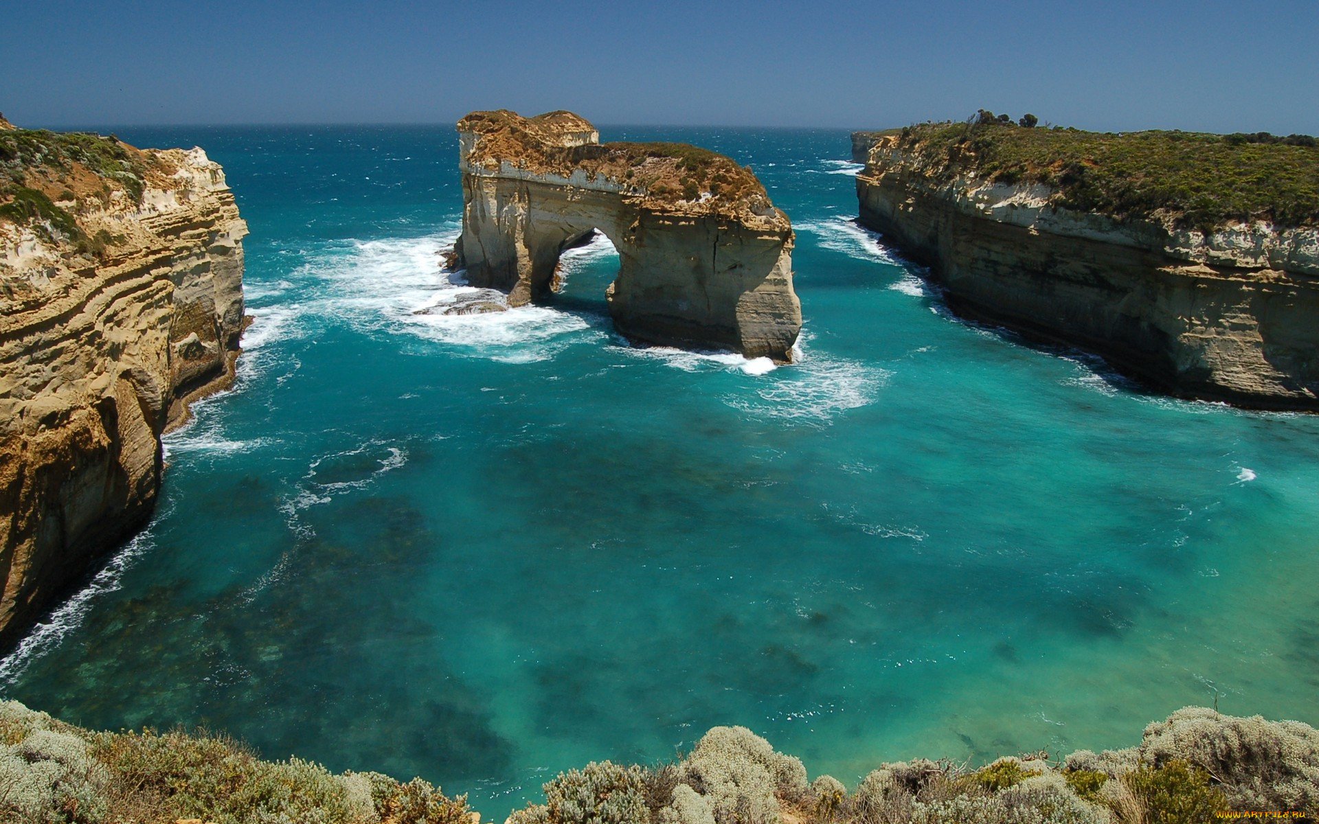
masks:
<svg viewBox="0 0 1319 824"><path fill-rule="evenodd" d="M91 733L0 703L0 821L34 824L471 824L421 779L261 761L206 733Z"/></svg>

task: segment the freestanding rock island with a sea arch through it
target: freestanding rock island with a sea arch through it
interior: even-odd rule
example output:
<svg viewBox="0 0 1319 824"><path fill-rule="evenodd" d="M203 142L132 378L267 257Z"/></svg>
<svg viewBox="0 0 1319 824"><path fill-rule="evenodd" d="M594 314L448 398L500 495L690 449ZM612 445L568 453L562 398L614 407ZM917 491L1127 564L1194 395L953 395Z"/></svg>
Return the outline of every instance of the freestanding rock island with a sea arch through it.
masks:
<svg viewBox="0 0 1319 824"><path fill-rule="evenodd" d="M455 265L521 306L561 252L599 229L619 250L609 314L628 338L790 359L801 331L793 228L748 169L682 144L600 144L568 112L458 123L463 233Z"/></svg>

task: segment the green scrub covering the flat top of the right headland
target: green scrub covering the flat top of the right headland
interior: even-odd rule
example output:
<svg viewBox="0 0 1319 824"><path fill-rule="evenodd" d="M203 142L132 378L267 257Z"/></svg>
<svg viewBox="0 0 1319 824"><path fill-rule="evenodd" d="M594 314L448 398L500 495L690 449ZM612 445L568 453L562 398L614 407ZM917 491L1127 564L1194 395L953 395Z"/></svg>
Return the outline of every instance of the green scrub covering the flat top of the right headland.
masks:
<svg viewBox="0 0 1319 824"><path fill-rule="evenodd" d="M1119 219L1166 216L1212 229L1233 220L1319 224L1319 145L1293 134L1100 133L1033 128L981 109L967 123L926 123L896 133L896 148L936 178L1043 183L1058 204Z"/></svg>

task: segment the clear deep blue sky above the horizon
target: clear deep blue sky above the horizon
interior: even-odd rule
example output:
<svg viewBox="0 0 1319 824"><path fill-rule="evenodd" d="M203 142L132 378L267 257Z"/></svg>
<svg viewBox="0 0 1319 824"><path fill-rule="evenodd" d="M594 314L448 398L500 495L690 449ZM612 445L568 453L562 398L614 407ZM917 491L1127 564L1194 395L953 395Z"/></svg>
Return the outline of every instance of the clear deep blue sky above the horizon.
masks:
<svg viewBox="0 0 1319 824"><path fill-rule="evenodd" d="M18 125L889 127L979 107L1100 129L1319 133L1319 1L0 0Z"/></svg>

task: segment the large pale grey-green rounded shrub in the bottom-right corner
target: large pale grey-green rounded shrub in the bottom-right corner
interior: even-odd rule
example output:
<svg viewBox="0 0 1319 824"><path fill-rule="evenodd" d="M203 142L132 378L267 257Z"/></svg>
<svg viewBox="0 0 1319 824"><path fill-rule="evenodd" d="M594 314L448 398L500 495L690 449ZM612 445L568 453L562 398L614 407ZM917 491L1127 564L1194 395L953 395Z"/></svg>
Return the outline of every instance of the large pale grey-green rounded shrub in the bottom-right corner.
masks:
<svg viewBox="0 0 1319 824"><path fill-rule="evenodd" d="M1237 808L1319 809L1319 730L1307 724L1187 707L1145 728L1140 755L1198 767Z"/></svg>

